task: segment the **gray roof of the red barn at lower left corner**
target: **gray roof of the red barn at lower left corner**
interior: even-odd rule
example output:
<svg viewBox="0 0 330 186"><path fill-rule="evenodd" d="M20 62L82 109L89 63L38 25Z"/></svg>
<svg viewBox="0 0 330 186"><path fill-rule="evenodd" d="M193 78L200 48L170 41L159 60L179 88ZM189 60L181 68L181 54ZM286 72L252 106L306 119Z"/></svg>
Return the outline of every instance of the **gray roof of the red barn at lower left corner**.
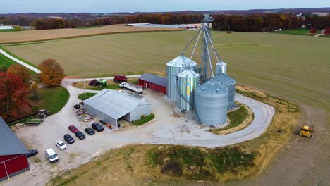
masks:
<svg viewBox="0 0 330 186"><path fill-rule="evenodd" d="M0 156L27 154L29 151L0 117Z"/></svg>

